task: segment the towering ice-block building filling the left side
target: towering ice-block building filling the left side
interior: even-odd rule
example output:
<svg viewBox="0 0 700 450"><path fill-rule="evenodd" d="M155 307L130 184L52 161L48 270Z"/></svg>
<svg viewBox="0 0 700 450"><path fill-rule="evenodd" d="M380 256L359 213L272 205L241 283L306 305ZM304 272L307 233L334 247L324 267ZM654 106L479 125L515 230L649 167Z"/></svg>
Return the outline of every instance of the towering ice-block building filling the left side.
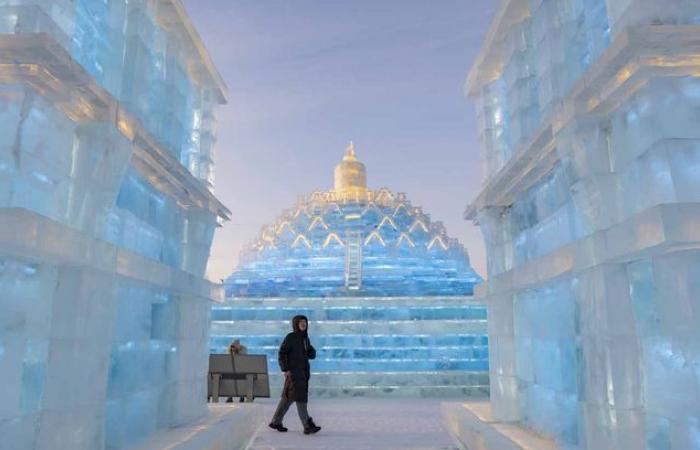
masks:
<svg viewBox="0 0 700 450"><path fill-rule="evenodd" d="M224 101L177 0L0 0L0 448L205 413Z"/></svg>

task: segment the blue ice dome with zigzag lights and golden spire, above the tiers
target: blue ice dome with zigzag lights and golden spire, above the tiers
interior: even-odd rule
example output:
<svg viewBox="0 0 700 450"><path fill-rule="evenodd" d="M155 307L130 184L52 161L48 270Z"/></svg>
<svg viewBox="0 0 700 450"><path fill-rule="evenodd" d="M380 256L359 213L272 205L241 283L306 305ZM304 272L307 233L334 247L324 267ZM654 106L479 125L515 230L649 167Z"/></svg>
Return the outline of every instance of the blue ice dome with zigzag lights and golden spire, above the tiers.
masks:
<svg viewBox="0 0 700 450"><path fill-rule="evenodd" d="M464 296L481 281L465 248L406 194L367 188L352 143L335 186L264 226L227 297Z"/></svg>

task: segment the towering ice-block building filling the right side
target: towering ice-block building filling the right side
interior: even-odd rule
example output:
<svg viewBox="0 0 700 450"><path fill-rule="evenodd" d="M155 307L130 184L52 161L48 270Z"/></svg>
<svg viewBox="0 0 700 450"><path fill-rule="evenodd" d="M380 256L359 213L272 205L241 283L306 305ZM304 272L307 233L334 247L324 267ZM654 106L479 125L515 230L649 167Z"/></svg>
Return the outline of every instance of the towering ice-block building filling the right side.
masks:
<svg viewBox="0 0 700 450"><path fill-rule="evenodd" d="M494 417L700 449L700 3L503 1L467 90Z"/></svg>

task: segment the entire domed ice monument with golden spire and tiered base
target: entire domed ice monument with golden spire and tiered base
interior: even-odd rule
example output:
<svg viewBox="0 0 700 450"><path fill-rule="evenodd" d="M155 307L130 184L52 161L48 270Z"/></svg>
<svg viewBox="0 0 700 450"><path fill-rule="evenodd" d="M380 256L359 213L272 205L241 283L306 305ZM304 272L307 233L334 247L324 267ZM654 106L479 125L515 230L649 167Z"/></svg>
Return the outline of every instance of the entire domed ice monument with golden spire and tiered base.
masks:
<svg viewBox="0 0 700 450"><path fill-rule="evenodd" d="M289 319L305 314L318 349L316 395L482 394L488 384L480 277L465 249L404 194L366 187L348 147L335 189L285 211L244 252L212 311L212 350L241 339L277 350Z"/></svg>

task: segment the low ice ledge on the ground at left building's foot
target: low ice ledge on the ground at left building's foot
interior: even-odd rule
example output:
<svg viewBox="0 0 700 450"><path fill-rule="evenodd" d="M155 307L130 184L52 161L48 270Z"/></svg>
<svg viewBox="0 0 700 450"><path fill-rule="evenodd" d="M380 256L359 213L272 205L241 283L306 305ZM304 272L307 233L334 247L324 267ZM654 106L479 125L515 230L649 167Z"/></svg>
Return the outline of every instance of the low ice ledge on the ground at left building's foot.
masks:
<svg viewBox="0 0 700 450"><path fill-rule="evenodd" d="M262 405L209 405L199 422L157 432L129 450L243 450L263 422Z"/></svg>

